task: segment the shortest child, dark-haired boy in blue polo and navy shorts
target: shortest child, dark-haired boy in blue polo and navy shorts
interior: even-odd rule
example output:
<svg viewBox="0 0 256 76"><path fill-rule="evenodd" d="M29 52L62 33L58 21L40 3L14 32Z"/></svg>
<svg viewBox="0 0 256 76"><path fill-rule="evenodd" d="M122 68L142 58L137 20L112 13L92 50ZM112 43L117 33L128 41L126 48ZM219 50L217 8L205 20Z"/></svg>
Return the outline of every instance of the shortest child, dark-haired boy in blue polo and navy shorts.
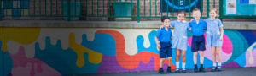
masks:
<svg viewBox="0 0 256 76"><path fill-rule="evenodd" d="M163 64L166 56L168 57L168 68L167 73L172 73L171 65L172 65L172 48L171 48L171 40L172 40L172 31L168 28L170 25L170 19L167 16L163 16L161 18L161 23L164 28L157 30L157 34L155 36L155 42L157 47L160 48L160 68L158 73L164 73Z"/></svg>

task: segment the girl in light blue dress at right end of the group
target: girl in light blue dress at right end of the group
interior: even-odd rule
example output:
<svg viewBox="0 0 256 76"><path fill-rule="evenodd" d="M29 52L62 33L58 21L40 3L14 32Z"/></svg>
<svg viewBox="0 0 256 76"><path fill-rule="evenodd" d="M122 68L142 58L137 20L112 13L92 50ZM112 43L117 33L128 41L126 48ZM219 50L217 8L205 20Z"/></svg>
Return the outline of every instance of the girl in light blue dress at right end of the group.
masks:
<svg viewBox="0 0 256 76"><path fill-rule="evenodd" d="M207 46L212 46L212 72L221 70L220 48L223 44L223 24L219 19L215 19L218 14L217 8L210 9L210 18L207 19ZM216 66L216 56L218 57L218 67ZM217 67L217 68L216 68Z"/></svg>

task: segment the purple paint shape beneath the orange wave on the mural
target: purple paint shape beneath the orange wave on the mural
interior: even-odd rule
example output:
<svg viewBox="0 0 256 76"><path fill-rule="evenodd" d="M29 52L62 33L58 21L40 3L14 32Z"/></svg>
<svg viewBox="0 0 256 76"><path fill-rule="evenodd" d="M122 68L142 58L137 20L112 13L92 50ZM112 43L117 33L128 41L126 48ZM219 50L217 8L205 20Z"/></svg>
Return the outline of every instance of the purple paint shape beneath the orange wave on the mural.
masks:
<svg viewBox="0 0 256 76"><path fill-rule="evenodd" d="M166 67L166 65L164 65ZM138 71L154 71L154 57L150 58L148 63L140 61L137 68L126 69L119 65L115 56L103 55L101 66L96 73L119 73L119 72L138 72Z"/></svg>

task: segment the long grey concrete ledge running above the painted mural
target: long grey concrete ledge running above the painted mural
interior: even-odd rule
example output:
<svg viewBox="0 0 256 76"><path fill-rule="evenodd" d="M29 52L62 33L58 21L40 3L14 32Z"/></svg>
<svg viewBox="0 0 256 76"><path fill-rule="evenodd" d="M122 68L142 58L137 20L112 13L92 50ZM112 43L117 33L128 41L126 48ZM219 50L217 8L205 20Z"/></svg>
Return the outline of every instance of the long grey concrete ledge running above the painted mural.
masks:
<svg viewBox="0 0 256 76"><path fill-rule="evenodd" d="M226 30L256 30L256 22L224 22ZM158 29L160 21L4 20L0 27Z"/></svg>

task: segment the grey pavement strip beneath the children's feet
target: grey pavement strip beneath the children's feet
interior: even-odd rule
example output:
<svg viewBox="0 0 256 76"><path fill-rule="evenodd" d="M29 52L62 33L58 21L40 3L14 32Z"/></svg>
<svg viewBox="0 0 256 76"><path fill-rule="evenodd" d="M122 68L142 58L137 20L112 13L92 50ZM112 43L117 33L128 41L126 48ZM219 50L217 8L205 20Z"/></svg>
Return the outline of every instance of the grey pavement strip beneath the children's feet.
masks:
<svg viewBox="0 0 256 76"><path fill-rule="evenodd" d="M189 70L188 73L158 74L156 71L151 71L132 73L80 74L67 76L256 76L256 68L223 68L223 71L220 72L210 72L210 69L207 69L207 72L205 73L194 73L193 70Z"/></svg>

